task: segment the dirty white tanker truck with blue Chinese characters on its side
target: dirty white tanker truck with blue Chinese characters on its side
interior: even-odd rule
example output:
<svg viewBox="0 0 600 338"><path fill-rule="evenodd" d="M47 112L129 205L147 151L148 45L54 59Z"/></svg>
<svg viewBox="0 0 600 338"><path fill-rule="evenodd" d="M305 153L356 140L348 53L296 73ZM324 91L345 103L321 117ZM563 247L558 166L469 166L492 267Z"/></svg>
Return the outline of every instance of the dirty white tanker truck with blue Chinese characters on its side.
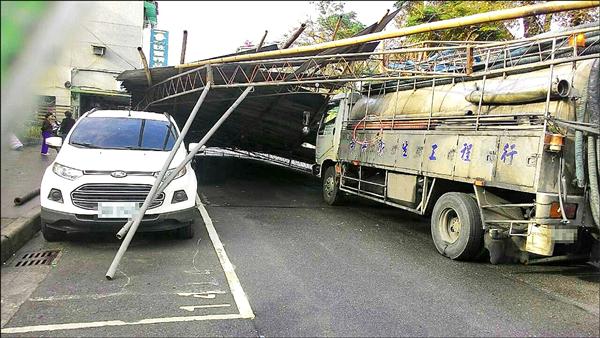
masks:
<svg viewBox="0 0 600 338"><path fill-rule="evenodd" d="M597 26L469 52L396 64L436 77L331 98L313 167L324 200L352 194L431 215L435 247L451 259L595 257ZM450 76L465 67L468 76Z"/></svg>

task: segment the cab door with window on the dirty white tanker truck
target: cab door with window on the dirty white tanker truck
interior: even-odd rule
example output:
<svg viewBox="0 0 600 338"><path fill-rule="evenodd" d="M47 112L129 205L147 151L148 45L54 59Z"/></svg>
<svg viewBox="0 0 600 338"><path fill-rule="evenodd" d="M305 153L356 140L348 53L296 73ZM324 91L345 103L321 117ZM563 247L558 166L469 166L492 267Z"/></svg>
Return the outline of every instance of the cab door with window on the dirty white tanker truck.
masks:
<svg viewBox="0 0 600 338"><path fill-rule="evenodd" d="M340 114L340 101L333 101L327 105L321 122L319 123L319 131L317 132L317 144L316 144L316 163L322 164L326 159L335 159L335 135L339 134L340 127L338 115ZM337 148L337 147L336 147Z"/></svg>

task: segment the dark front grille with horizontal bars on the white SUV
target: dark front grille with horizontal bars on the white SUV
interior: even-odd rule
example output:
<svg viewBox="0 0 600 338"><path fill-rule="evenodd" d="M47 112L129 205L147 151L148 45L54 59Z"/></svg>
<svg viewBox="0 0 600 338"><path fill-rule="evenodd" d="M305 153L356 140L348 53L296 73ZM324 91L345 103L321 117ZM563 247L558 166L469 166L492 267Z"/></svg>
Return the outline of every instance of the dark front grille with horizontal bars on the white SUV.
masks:
<svg viewBox="0 0 600 338"><path fill-rule="evenodd" d="M71 193L73 205L87 210L98 210L98 202L139 202L144 203L152 188L149 184L88 183ZM149 209L162 205L165 193L158 195Z"/></svg>

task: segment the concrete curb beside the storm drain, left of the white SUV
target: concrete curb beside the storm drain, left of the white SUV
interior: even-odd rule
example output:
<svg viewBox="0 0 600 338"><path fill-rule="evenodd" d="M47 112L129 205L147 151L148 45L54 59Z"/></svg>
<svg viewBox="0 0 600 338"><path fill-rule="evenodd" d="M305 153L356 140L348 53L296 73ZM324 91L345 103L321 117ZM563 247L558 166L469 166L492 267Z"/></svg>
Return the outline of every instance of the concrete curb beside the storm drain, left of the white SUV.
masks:
<svg viewBox="0 0 600 338"><path fill-rule="evenodd" d="M40 230L40 210L34 210L25 217L19 217L2 229L0 247L2 263L12 257L36 232Z"/></svg>

